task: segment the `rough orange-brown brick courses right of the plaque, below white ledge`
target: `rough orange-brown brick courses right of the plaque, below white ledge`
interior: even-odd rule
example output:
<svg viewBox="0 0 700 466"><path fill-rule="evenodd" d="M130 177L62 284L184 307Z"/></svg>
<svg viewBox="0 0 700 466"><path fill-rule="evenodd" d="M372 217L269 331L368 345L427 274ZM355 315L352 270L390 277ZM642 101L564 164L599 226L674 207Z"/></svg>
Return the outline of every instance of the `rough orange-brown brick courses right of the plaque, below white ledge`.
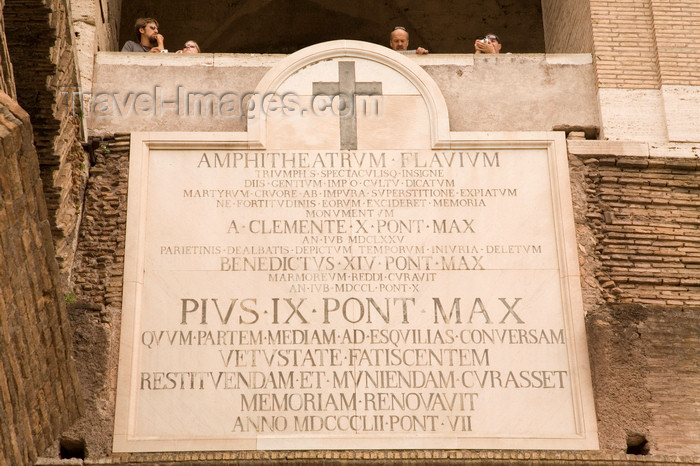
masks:
<svg viewBox="0 0 700 466"><path fill-rule="evenodd" d="M609 302L700 306L700 161L587 160Z"/></svg>

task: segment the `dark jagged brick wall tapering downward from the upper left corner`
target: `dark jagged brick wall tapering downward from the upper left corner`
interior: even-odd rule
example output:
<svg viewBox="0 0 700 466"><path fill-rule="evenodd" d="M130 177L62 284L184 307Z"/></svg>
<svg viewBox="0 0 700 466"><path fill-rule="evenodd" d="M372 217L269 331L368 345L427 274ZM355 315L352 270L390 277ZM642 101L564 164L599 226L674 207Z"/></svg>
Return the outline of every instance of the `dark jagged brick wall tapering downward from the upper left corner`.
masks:
<svg viewBox="0 0 700 466"><path fill-rule="evenodd" d="M78 74L66 0L6 2L7 47L17 100L31 116L54 246L64 285L69 281L80 223L87 156L72 93Z"/></svg>

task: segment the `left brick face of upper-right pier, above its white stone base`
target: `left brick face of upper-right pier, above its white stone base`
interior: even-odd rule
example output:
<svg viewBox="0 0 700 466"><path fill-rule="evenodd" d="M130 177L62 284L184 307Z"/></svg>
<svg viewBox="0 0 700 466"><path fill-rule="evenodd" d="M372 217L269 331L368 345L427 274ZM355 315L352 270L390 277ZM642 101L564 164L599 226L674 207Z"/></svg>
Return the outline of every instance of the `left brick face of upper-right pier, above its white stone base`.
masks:
<svg viewBox="0 0 700 466"><path fill-rule="evenodd" d="M651 0L590 0L590 10L598 87L658 89Z"/></svg>

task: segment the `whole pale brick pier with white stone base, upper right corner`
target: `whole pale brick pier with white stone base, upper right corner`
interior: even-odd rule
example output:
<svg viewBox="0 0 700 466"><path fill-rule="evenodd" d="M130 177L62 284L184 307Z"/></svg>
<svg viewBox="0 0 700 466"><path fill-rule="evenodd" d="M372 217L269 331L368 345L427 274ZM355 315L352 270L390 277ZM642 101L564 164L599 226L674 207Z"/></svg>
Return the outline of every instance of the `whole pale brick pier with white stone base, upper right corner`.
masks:
<svg viewBox="0 0 700 466"><path fill-rule="evenodd" d="M590 8L602 136L693 143L678 156L697 156L700 2L590 0Z"/></svg>

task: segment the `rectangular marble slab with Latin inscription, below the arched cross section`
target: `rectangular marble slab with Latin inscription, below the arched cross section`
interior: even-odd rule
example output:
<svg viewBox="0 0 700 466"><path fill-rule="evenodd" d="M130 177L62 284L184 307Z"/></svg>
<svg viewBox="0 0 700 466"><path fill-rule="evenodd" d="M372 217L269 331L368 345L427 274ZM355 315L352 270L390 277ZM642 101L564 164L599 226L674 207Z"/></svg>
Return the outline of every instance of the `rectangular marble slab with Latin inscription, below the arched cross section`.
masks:
<svg viewBox="0 0 700 466"><path fill-rule="evenodd" d="M597 448L552 138L137 135L115 451Z"/></svg>

